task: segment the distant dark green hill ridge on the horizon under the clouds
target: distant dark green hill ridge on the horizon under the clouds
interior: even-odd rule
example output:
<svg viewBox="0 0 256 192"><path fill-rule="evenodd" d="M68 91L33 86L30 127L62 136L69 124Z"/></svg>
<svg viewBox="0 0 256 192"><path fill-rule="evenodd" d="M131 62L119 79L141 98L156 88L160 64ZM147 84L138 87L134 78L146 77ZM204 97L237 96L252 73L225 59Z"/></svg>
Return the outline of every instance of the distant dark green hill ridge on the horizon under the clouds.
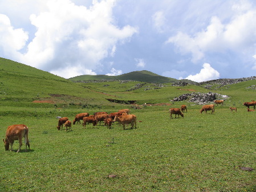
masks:
<svg viewBox="0 0 256 192"><path fill-rule="evenodd" d="M174 83L177 79L170 77L164 77L157 75L156 73L143 70L143 71L133 71L129 73L124 73L117 76L108 75L80 75L76 77L71 77L69 80L72 81L87 81L87 80L134 80L142 81L147 83Z"/></svg>

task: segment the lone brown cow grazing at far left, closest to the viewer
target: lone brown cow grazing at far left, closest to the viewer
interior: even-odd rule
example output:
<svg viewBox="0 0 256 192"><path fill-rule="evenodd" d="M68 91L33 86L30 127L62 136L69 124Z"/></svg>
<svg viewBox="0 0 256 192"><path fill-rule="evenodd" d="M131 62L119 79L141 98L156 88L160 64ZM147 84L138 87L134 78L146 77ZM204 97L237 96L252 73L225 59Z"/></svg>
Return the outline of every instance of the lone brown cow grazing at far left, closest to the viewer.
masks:
<svg viewBox="0 0 256 192"><path fill-rule="evenodd" d="M25 138L26 151L27 146L30 148L29 144L29 128L26 125L18 124L18 125L10 125L6 130L5 140L3 139L3 143L5 144L5 150L9 150L9 146L11 145L11 150L13 150L14 140L19 140L19 150L21 150L22 146L22 137Z"/></svg>

